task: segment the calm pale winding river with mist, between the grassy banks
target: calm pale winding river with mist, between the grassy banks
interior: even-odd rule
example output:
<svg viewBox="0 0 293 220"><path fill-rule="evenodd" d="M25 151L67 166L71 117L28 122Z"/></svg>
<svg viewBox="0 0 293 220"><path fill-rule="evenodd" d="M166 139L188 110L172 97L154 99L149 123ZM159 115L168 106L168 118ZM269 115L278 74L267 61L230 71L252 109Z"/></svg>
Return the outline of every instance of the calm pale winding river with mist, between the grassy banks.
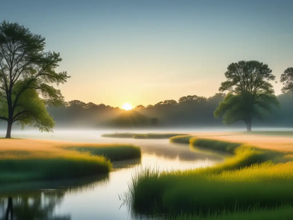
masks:
<svg viewBox="0 0 293 220"><path fill-rule="evenodd" d="M157 166L159 169L168 170L196 168L213 165L222 160L220 155L192 152L188 145L173 145L168 139L100 137L103 133L113 132L115 131L59 130L52 134L38 131L13 131L12 136L16 138L87 143L133 143L142 148L142 158L114 163L114 170L109 175L81 180L22 183L9 185L6 188L1 187L0 219L1 216L4 218L8 196L13 197L15 215L23 216L26 213L28 216L25 219L131 219L127 207L122 205L118 195L127 190L127 183L136 170L146 166ZM0 135L2 133L5 131L0 131Z"/></svg>

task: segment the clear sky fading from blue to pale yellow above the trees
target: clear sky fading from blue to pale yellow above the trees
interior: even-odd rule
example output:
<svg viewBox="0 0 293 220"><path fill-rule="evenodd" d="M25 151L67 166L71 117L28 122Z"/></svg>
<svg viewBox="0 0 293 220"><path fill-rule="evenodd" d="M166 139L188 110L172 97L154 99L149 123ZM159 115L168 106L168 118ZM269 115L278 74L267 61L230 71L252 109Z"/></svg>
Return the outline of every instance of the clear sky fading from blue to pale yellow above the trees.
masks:
<svg viewBox="0 0 293 220"><path fill-rule="evenodd" d="M231 62L259 60L276 80L293 66L292 0L14 0L18 22L60 52L74 99L122 107L218 92ZM276 94L282 84L274 83Z"/></svg>

